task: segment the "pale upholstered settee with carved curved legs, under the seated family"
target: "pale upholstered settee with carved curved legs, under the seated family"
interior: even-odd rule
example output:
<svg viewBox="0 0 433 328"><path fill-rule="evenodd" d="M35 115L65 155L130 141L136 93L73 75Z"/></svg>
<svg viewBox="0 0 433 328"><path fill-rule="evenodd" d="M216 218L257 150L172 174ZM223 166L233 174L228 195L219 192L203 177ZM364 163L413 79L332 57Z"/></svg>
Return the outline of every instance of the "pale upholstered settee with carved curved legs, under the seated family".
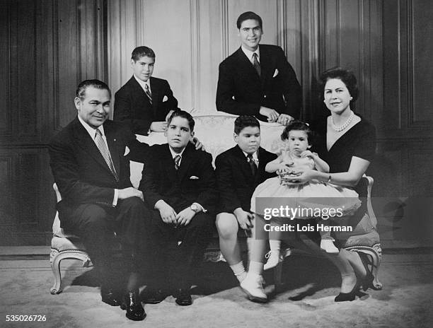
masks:
<svg viewBox="0 0 433 328"><path fill-rule="evenodd" d="M202 144L204 144L207 152L212 154L213 160L227 149L233 147L235 142L233 140L233 127L234 120L236 116L234 115L201 115L195 116L195 136L197 136ZM282 133L283 127L276 123L261 123L261 146L266 148L268 151L277 153L282 147L282 141L280 135ZM164 144L166 143L166 137L163 133L151 133L149 136L137 136L137 139L146 144ZM131 182L134 187L138 187L139 182L142 178L143 164L137 162L131 162ZM370 180L372 185L372 179ZM371 185L369 185L369 192L371 192ZM56 190L57 201L61 199L57 188ZM369 209L371 209L371 203L369 203ZM371 209L371 213L372 209ZM374 216L374 213L373 213ZM375 217L374 217L375 218ZM374 230L375 226L371 226L371 231ZM217 237L217 235L215 236ZM364 242L358 242L357 238L349 238L348 249L355 251L368 252L374 258L374 264L376 269L379 268L381 260L381 249L379 243L379 235L377 237L377 242L374 245L366 245ZM289 252L287 252L289 254ZM60 274L60 262L65 258L79 259L83 262L83 265L88 265L90 259L86 253L85 248L81 244L78 238L67 235L62 228L60 228L60 222L58 214L54 218L53 223L53 238L51 245L50 262L52 271L54 274L54 286L51 288L52 294L57 294L62 291L61 283L62 276ZM207 252L205 253L205 260L217 262L222 260L221 253L219 252L218 238L212 238L212 241L207 247ZM281 268L278 266L275 270L275 283L280 283L281 281ZM375 274L375 277L377 274ZM379 286L379 281L375 281Z"/></svg>

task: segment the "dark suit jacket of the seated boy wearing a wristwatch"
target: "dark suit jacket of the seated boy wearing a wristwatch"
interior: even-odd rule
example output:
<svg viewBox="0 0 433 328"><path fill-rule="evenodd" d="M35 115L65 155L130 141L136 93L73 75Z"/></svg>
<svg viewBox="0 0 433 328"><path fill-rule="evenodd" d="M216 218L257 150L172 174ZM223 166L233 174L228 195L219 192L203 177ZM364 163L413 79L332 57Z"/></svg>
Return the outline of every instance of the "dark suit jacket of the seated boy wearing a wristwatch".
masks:
<svg viewBox="0 0 433 328"><path fill-rule="evenodd" d="M154 209L156 201L163 199L175 211L197 202L212 212L217 201L212 156L195 150L195 146L188 143L180 168L175 170L168 144L151 146L139 189L151 209Z"/></svg>

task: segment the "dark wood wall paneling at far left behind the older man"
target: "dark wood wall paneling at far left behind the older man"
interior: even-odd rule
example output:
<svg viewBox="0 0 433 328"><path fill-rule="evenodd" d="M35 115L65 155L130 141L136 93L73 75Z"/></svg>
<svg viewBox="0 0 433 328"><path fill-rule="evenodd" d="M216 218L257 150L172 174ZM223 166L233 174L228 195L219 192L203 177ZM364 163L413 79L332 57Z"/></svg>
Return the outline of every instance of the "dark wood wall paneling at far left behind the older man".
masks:
<svg viewBox="0 0 433 328"><path fill-rule="evenodd" d="M47 143L76 116L77 83L107 76L106 4L1 5L0 245L44 245L55 213Z"/></svg>

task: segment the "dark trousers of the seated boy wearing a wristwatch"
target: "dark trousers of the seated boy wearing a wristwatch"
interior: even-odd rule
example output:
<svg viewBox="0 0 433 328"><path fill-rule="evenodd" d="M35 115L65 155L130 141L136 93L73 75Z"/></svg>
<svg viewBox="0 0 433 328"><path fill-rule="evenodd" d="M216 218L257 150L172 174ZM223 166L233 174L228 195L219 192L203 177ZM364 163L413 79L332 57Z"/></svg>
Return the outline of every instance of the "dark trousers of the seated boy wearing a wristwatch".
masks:
<svg viewBox="0 0 433 328"><path fill-rule="evenodd" d="M196 213L188 225L164 223L158 210L150 210L148 221L151 232L146 250L152 255L154 279L160 287L165 286L167 279L173 288L190 288L192 276L198 264L202 262L204 250L212 233L214 220L207 213Z"/></svg>

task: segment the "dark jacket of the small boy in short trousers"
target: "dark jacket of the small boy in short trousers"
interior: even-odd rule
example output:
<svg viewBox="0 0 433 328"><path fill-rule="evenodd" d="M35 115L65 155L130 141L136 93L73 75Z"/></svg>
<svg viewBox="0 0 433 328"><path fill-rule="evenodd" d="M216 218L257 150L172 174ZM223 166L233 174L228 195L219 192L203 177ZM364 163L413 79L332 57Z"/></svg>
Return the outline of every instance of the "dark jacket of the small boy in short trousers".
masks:
<svg viewBox="0 0 433 328"><path fill-rule="evenodd" d="M215 160L219 190L218 211L233 213L238 207L244 211L250 211L251 196L255 187L275 176L275 173L265 171L266 164L275 158L277 158L275 153L270 153L260 147L258 149L258 170L253 177L246 156L238 145L219 154Z"/></svg>

